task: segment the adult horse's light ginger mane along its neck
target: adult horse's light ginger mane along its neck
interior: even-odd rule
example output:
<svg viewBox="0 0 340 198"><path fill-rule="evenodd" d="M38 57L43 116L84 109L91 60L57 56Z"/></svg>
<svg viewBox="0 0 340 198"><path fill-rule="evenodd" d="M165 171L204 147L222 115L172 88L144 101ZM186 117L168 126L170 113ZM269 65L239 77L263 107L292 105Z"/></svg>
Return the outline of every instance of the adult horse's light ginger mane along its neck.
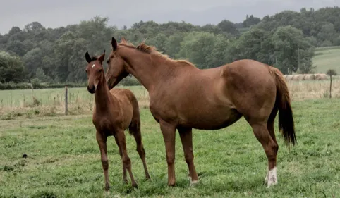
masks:
<svg viewBox="0 0 340 198"><path fill-rule="evenodd" d="M168 55L162 54L161 52L157 51L156 47L147 45L147 44L145 44L145 42L141 42L140 44L138 44L137 47L135 47L135 45L133 45L132 43L127 43L127 42L121 42L121 43L119 43L119 45L125 46L125 47L130 47L130 48L133 48L133 49L137 49L138 51L142 51L142 52L147 53L147 54L156 55L156 56L159 56L159 57L164 58L164 59L169 60L169 61L174 61L176 63L185 63L185 64L188 64L190 66L195 67L193 65L193 63L190 63L189 61L186 61L186 60L171 59L171 58L169 58Z"/></svg>

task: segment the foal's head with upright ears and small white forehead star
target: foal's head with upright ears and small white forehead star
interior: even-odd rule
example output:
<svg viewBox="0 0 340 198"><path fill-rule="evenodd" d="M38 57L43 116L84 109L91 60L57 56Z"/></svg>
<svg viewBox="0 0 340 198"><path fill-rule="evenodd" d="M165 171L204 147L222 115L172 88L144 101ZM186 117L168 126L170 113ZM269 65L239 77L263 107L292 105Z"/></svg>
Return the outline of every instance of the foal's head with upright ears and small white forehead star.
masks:
<svg viewBox="0 0 340 198"><path fill-rule="evenodd" d="M90 57L89 53L86 51L85 59L87 61L86 73L87 73L87 90L93 94L96 92L99 83L103 83L104 80L104 68L103 61L105 57L105 50L102 56ZM106 82L104 82L106 83Z"/></svg>

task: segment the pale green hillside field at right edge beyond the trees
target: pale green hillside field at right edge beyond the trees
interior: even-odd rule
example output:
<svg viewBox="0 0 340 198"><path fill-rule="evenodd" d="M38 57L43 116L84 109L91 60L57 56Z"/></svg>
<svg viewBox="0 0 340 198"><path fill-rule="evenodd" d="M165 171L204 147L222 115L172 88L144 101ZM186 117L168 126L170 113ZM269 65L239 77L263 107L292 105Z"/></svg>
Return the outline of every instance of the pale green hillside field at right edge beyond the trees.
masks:
<svg viewBox="0 0 340 198"><path fill-rule="evenodd" d="M313 63L317 68L315 72L326 73L330 68L335 69L340 74L340 46L320 47L315 50L316 56Z"/></svg>

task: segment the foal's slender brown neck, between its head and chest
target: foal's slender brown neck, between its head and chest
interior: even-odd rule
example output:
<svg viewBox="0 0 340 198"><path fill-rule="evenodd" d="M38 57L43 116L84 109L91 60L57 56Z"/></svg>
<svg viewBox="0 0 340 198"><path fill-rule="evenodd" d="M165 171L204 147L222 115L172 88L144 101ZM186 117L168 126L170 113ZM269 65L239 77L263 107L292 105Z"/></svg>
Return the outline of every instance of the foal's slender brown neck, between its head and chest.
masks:
<svg viewBox="0 0 340 198"><path fill-rule="evenodd" d="M103 77L98 83L97 90L95 92L96 111L107 111L110 101L109 94L109 87L107 87L106 80Z"/></svg>

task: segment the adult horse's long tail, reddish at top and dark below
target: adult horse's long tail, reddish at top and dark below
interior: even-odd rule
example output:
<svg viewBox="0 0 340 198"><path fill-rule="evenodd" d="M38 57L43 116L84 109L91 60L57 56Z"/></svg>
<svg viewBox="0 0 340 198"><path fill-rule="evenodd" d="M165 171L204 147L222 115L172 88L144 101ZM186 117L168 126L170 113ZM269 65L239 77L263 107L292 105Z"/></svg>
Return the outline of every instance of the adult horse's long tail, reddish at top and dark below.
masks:
<svg viewBox="0 0 340 198"><path fill-rule="evenodd" d="M291 109L291 99L289 97L289 89L284 80L284 75L277 69L270 67L274 79L277 84L276 106L279 108L279 131L284 137L284 141L289 147L290 144L296 144L295 127L293 120L293 111Z"/></svg>

